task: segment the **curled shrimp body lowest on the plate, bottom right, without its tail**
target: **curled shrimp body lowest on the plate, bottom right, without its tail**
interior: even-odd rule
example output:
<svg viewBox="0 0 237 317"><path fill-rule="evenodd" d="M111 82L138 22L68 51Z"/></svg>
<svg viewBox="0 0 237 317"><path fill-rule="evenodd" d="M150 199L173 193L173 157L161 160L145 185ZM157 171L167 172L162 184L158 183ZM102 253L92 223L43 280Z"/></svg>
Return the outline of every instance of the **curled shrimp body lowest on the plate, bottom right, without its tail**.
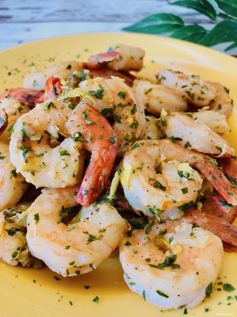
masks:
<svg viewBox="0 0 237 317"><path fill-rule="evenodd" d="M145 220L131 222L137 229L119 245L126 284L160 308L198 305L222 268L221 239L192 224Z"/></svg>

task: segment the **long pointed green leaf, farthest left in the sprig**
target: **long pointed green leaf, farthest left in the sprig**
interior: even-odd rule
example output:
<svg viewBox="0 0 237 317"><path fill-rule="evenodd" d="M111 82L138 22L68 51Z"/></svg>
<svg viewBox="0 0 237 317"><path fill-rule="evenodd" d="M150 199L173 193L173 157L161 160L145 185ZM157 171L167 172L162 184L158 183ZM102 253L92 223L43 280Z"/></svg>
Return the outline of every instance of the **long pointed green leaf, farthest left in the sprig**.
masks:
<svg viewBox="0 0 237 317"><path fill-rule="evenodd" d="M161 34L173 32L181 26L184 26L184 22L179 16L168 13L158 13L148 16L140 22L123 30L139 33Z"/></svg>

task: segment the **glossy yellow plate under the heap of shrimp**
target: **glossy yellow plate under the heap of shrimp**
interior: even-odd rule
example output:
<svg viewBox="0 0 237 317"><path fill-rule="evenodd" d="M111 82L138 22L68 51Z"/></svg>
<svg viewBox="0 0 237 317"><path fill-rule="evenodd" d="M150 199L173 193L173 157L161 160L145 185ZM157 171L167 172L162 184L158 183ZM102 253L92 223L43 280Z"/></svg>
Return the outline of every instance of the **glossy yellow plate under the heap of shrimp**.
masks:
<svg viewBox="0 0 237 317"><path fill-rule="evenodd" d="M142 34L94 33L61 36L13 47L0 52L0 87L22 87L23 78L32 68L42 70L55 62L69 59L87 61L107 46L124 43L145 50L141 75L153 78L160 68L172 68L204 79L220 81L230 90L237 105L237 60L196 44ZM1 93L1 92L0 92ZM236 107L236 106L235 106ZM228 122L228 139L237 150L236 108ZM234 141L235 140L235 141ZM237 253L225 254L220 279L210 298L198 307L187 309L188 316L223 316L237 312ZM56 280L54 276L60 278ZM236 290L223 290L222 282ZM89 286L88 289L85 286ZM218 291L217 288L221 290ZM99 297L98 303L93 301ZM231 298L228 298L231 296ZM208 312L205 313L205 309ZM17 314L42 316L183 316L184 308L163 312L132 293L123 281L118 257L109 258L91 273L63 278L44 267L40 270L12 267L0 261L0 316Z"/></svg>

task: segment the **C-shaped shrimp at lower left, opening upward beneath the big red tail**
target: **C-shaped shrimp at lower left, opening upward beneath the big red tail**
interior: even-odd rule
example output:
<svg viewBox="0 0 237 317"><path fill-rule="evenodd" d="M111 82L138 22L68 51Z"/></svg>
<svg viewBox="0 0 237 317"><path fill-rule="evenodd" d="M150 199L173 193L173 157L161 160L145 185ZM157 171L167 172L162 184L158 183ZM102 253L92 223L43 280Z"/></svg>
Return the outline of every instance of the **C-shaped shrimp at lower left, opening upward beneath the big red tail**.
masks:
<svg viewBox="0 0 237 317"><path fill-rule="evenodd" d="M75 190L48 189L27 210L27 243L31 253L62 276L97 268L118 246L128 228L107 204L82 208L70 223L62 220L75 210Z"/></svg>

